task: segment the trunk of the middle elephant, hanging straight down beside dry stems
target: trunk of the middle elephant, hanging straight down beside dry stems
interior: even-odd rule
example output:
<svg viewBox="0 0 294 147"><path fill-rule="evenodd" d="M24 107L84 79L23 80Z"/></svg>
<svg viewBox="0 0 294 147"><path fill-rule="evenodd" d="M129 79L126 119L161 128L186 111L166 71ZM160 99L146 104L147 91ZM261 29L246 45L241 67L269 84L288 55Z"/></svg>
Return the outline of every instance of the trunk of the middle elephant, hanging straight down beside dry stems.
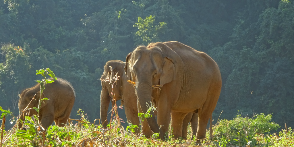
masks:
<svg viewBox="0 0 294 147"><path fill-rule="evenodd" d="M107 88L102 84L101 98L100 98L100 118L103 128L107 128L107 111L111 97L108 94Z"/></svg>

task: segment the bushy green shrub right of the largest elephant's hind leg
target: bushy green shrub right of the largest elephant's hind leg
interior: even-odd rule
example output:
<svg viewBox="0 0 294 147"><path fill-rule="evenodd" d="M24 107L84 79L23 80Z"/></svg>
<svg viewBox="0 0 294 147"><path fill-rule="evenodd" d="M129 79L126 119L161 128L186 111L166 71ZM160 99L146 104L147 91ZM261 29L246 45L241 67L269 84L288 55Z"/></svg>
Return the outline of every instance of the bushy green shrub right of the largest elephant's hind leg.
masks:
<svg viewBox="0 0 294 147"><path fill-rule="evenodd" d="M238 145L247 145L249 141L256 143L254 138L257 133L268 133L272 130L277 130L280 126L277 123L270 122L272 115L265 116L263 113L254 115L253 118L248 116L242 117L238 114L233 120L228 121L222 119L214 127L215 135L226 135L229 139L232 139L231 143ZM228 142L224 136L217 137L219 145L224 145Z"/></svg>

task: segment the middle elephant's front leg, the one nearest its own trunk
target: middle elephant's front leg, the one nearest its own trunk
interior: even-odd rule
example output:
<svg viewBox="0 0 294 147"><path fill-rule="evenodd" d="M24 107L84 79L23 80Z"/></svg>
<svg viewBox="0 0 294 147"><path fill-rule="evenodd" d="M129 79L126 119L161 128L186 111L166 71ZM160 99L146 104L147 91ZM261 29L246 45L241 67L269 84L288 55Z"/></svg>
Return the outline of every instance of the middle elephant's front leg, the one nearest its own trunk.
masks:
<svg viewBox="0 0 294 147"><path fill-rule="evenodd" d="M140 133L139 125L140 125L140 119L138 117L138 108L137 106L131 105L130 102L126 101L124 103L125 107L125 113L126 117L128 119L129 123L132 123L133 125L137 125L138 127L135 129L135 133Z"/></svg>

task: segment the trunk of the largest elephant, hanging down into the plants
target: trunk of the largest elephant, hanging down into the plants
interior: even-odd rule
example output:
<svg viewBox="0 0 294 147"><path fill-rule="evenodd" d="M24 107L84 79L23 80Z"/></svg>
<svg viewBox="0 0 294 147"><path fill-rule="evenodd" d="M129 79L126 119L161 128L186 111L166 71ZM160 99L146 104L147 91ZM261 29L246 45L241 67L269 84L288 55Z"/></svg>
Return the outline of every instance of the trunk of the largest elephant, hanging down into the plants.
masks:
<svg viewBox="0 0 294 147"><path fill-rule="evenodd" d="M139 104L141 105L141 109L143 113L146 113L148 111L147 103L150 105L150 102L152 102L152 83L148 81L142 82L141 80L136 80L135 89ZM159 133L159 126L155 120L154 112L151 111L150 114L152 115L152 117L146 118L149 127L154 133Z"/></svg>

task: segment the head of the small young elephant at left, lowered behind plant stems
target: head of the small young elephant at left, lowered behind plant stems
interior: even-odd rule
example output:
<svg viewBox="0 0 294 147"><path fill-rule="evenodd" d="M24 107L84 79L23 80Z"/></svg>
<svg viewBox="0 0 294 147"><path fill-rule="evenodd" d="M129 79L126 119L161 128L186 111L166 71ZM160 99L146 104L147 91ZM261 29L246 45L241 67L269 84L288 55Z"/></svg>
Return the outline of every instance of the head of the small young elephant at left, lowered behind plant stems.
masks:
<svg viewBox="0 0 294 147"><path fill-rule="evenodd" d="M25 91L23 91L20 94L20 99L19 99L19 115L20 115L20 119L22 121L24 121L26 119L25 116L33 116L34 114L37 114L37 111L35 111L33 108L36 107L38 108L38 104L39 104L39 100L40 97L41 98L46 98L45 94L40 92L40 89L26 89ZM44 100L43 103L41 103L41 107L39 109L39 111L41 111L41 109L47 105L47 103L49 102L49 100ZM24 111L24 113L22 113L22 111L26 108L26 106L28 106L28 110ZM22 128L22 122L19 122L18 125L19 129Z"/></svg>

